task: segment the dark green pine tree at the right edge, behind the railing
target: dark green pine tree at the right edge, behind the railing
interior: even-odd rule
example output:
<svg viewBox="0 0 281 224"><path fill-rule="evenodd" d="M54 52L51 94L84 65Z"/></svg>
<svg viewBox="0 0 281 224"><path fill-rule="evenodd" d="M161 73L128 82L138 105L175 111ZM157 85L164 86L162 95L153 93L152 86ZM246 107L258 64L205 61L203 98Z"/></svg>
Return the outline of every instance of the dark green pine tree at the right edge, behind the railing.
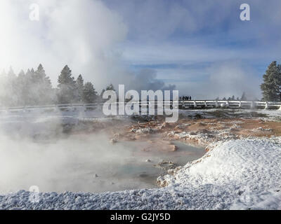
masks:
<svg viewBox="0 0 281 224"><path fill-rule="evenodd" d="M263 100L279 101L281 99L281 66L276 62L271 62L263 75L261 84Z"/></svg>

